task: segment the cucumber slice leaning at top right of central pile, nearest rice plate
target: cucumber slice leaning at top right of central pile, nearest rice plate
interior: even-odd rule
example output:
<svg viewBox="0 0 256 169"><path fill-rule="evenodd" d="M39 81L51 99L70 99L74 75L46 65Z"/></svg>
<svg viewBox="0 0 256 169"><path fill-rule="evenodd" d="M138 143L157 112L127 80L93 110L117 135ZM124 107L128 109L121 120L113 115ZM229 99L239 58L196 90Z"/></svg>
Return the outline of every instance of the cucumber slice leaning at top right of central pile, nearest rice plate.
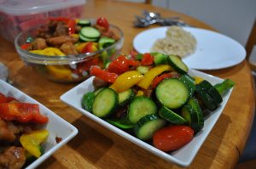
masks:
<svg viewBox="0 0 256 169"><path fill-rule="evenodd" d="M172 66L172 68L174 70L177 70L178 73L180 74L188 73L189 68L187 65L183 63L183 60L180 57L171 54L169 55L167 60L168 60L168 63Z"/></svg>

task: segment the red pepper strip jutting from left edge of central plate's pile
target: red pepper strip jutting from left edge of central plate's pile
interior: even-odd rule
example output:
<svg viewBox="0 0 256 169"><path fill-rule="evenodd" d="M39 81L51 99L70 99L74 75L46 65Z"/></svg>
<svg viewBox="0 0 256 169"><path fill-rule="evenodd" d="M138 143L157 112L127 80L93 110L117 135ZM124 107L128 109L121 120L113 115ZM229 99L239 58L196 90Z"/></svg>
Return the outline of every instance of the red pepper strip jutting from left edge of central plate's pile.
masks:
<svg viewBox="0 0 256 169"><path fill-rule="evenodd" d="M92 66L90 68L90 75L99 77L103 81L111 83L115 82L116 78L118 77L118 74L102 70L97 66Z"/></svg>

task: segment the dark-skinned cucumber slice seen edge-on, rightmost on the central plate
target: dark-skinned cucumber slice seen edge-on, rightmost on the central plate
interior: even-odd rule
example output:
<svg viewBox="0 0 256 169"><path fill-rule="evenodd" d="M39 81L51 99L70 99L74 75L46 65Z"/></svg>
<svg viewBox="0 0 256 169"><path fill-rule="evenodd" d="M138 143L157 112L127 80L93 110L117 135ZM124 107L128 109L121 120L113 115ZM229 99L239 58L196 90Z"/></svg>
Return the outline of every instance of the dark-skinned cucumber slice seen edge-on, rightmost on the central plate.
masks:
<svg viewBox="0 0 256 169"><path fill-rule="evenodd" d="M210 82L204 80L200 82L198 85L206 89L207 93L212 97L212 99L217 105L222 103L223 99L221 95L218 93L218 90L212 86Z"/></svg>

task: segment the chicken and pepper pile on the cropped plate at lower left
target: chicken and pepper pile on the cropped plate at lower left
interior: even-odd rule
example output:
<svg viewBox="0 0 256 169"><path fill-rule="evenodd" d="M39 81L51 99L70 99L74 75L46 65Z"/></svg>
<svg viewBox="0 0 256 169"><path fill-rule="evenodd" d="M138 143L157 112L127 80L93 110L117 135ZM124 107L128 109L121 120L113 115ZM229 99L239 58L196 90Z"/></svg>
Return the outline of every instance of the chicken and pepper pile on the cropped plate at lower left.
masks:
<svg viewBox="0 0 256 169"><path fill-rule="evenodd" d="M41 144L47 140L49 132L39 128L49 119L40 113L38 104L21 103L0 93L0 121L0 143L4 143L1 144L0 167L21 168L44 153Z"/></svg>

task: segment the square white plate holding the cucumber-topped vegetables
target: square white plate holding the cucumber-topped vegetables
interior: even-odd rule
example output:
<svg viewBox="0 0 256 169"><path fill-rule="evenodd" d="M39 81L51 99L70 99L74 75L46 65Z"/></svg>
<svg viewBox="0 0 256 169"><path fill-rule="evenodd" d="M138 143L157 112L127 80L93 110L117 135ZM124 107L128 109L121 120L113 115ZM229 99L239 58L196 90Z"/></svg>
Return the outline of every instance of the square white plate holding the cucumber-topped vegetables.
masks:
<svg viewBox="0 0 256 169"><path fill-rule="evenodd" d="M197 70L189 70L189 74L191 76L201 76L206 79L208 82L212 84L216 84L222 82L223 79L220 79L216 76L207 75L203 72ZM89 91L93 91L92 80L94 77L90 77L88 80L81 82L78 86L73 87L71 90L67 91L61 95L61 101L64 103L72 106L76 110L79 110L81 113L89 117L91 120L96 121L103 127L108 128L109 130L116 132L119 136L124 137L130 140L132 143L137 144L138 146L142 147L143 149L147 149L148 151L154 153L154 155L158 155L159 157L166 159L166 161L171 161L177 163L180 166L189 166L189 164L195 158L197 151L201 148L201 144L207 138L209 132L212 130L212 127L218 121L219 115L221 115L222 111L224 110L224 106L227 104L228 99L230 98L230 94L232 89L224 96L223 103L218 107L217 110L212 111L210 115L207 116L205 119L205 127L195 135L195 138L192 139L189 144L183 146L183 148L178 149L171 154L167 154L160 149L154 148L152 145L143 142L142 140L131 136L129 133L120 130L117 127L109 124L107 121L102 120L101 118L97 117L96 115L91 114L90 112L84 110L81 106L81 100L84 93Z"/></svg>

